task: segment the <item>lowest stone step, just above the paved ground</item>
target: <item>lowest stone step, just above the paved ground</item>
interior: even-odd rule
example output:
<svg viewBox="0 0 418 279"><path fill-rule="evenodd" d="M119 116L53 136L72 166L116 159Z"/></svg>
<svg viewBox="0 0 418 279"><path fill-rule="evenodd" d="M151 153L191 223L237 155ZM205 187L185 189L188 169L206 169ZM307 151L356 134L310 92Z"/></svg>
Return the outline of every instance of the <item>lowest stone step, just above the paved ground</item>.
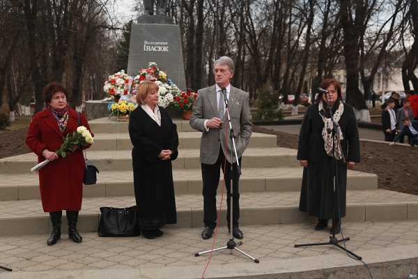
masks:
<svg viewBox="0 0 418 279"><path fill-rule="evenodd" d="M298 210L297 191L241 193L240 225L315 223L316 218ZM217 199L219 208L220 196ZM85 197L80 211L80 232L98 229L101 206L125 207L135 204L133 195ZM201 194L176 195L178 223L167 227L201 227ZM0 236L48 234L49 215L42 211L40 199L0 202ZM226 224L226 193L222 202L221 225ZM344 222L378 220L417 220L418 196L389 190L348 190L347 215ZM65 224L63 224L65 230Z"/></svg>

